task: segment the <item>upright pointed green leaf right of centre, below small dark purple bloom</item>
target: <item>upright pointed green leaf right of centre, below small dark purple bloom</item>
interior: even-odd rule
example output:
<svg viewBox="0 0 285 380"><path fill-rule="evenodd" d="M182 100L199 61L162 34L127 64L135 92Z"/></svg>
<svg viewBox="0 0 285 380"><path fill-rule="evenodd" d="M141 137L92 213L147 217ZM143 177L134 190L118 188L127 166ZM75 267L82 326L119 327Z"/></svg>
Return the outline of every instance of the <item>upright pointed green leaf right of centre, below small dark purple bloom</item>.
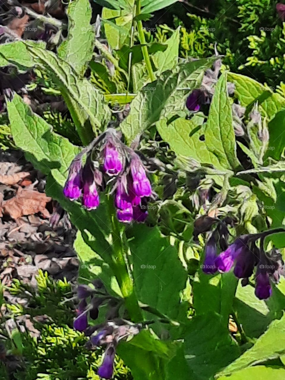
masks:
<svg viewBox="0 0 285 380"><path fill-rule="evenodd" d="M226 73L220 76L211 101L207 120L205 141L208 149L218 157L226 169L237 168L236 139L233 129L233 115L227 94Z"/></svg>

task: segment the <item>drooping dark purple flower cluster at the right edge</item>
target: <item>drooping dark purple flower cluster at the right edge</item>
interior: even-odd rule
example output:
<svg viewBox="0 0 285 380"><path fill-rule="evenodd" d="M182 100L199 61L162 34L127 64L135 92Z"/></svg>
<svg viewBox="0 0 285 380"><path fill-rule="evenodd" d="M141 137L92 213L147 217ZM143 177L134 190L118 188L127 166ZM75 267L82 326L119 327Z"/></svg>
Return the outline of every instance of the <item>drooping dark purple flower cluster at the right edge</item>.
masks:
<svg viewBox="0 0 285 380"><path fill-rule="evenodd" d="M248 234L237 237L234 242L225 248L228 232L225 224L219 223L211 233L206 247L202 269L207 274L229 272L234 267L234 275L242 279L242 285L249 283L255 269L255 295L259 299L267 299L272 294L271 281L279 282L284 273L282 256L275 249L271 254L265 253L263 239L275 231L266 231L261 234ZM261 247L256 241L260 239ZM217 240L222 252L217 254ZM226 244L227 245L227 244Z"/></svg>

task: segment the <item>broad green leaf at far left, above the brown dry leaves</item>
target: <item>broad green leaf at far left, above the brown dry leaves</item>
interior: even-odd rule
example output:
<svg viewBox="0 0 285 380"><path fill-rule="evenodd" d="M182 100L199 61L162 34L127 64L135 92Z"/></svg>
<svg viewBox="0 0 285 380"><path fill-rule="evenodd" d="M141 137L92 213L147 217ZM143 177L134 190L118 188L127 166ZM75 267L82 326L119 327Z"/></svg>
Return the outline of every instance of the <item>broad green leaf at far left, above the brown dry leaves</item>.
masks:
<svg viewBox="0 0 285 380"><path fill-rule="evenodd" d="M19 95L15 94L12 101L7 101L7 110L16 146L28 153L28 159L36 168L44 174L52 171L63 185L79 147L52 132L51 125L33 114Z"/></svg>

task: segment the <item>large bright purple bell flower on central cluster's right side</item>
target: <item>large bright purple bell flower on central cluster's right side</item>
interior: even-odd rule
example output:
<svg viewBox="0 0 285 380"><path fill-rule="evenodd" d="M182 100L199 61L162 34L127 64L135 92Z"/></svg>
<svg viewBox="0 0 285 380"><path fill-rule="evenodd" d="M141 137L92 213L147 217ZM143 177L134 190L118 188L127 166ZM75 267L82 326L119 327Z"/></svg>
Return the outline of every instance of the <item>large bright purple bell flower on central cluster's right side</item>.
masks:
<svg viewBox="0 0 285 380"><path fill-rule="evenodd" d="M146 176L146 170L137 155L133 155L131 159L131 176L133 178L132 185L135 195L142 197L152 194L152 188Z"/></svg>

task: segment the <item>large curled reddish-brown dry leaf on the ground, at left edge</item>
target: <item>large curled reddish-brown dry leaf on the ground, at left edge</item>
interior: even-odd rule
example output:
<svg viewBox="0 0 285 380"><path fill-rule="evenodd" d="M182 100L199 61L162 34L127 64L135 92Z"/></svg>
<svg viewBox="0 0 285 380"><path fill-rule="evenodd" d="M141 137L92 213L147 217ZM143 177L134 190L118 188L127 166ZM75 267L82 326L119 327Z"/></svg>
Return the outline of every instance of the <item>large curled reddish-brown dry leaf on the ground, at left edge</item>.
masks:
<svg viewBox="0 0 285 380"><path fill-rule="evenodd" d="M38 212L41 212L44 217L49 218L50 214L46 209L46 204L50 201L51 197L46 196L45 193L19 187L14 198L2 203L2 211L3 214L9 214L13 219Z"/></svg>

